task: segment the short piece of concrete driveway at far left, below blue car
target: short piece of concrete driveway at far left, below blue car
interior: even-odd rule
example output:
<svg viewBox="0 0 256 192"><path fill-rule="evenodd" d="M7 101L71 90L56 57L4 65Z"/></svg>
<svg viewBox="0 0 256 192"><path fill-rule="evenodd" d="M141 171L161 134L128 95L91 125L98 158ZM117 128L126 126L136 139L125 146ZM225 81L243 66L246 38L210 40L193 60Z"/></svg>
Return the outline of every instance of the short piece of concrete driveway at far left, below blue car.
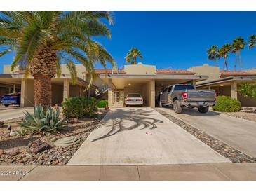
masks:
<svg viewBox="0 0 256 192"><path fill-rule="evenodd" d="M10 107L8 109L2 109L0 110L0 121L22 117L25 111L32 113L33 107Z"/></svg>

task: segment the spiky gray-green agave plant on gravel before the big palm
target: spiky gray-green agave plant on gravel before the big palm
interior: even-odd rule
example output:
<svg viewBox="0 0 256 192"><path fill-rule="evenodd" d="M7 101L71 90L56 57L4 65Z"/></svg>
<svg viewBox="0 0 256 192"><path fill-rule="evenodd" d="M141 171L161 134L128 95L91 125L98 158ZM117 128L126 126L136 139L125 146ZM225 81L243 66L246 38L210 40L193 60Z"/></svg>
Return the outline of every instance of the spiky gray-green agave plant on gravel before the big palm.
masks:
<svg viewBox="0 0 256 192"><path fill-rule="evenodd" d="M43 110L43 106L34 105L34 114L25 112L23 123L20 123L22 129L20 132L31 132L32 134L39 132L57 132L66 126L65 118L60 118L60 109L54 110L48 107Z"/></svg>

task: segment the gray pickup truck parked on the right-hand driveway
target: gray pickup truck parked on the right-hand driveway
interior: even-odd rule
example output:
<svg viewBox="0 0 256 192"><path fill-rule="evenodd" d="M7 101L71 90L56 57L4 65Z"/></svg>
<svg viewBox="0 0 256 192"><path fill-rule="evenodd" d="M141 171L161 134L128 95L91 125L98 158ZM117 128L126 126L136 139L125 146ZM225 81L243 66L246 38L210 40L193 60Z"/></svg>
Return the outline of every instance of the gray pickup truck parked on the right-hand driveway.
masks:
<svg viewBox="0 0 256 192"><path fill-rule="evenodd" d="M175 113L180 114L182 107L197 107L200 113L207 113L209 106L216 104L215 90L196 90L194 85L175 84L163 89L159 107L172 105Z"/></svg>

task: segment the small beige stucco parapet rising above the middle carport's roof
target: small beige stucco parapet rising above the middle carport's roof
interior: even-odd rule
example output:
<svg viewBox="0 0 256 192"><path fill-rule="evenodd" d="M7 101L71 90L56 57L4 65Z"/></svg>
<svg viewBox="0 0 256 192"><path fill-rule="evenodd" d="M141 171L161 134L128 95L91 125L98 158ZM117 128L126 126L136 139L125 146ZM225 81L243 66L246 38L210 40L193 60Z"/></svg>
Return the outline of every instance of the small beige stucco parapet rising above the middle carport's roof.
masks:
<svg viewBox="0 0 256 192"><path fill-rule="evenodd" d="M126 64L123 69L126 74L133 75L154 75L156 73L156 66L149 64L142 64L139 62L138 64Z"/></svg>

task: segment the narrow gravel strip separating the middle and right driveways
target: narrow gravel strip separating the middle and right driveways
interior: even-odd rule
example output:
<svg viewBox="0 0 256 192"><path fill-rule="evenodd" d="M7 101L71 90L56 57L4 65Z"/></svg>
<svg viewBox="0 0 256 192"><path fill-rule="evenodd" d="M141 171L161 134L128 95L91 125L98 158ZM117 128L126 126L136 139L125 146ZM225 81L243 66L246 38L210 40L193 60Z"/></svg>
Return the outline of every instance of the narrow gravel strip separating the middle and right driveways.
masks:
<svg viewBox="0 0 256 192"><path fill-rule="evenodd" d="M170 114L167 114L165 111L162 111L161 109L155 109L155 110L158 111L163 116L166 116L166 118L168 118L170 121L173 121L173 123L176 123L184 130L187 130L187 132L191 133L191 135L194 135L194 137L196 137L197 139L201 140L202 142L210 146L210 148L217 151L217 153L220 153L222 156L229 158L231 162L233 163L255 163L256 162L256 158L247 156L245 153L242 153L241 151L234 149L232 146L229 146L223 142L220 142L220 140L215 139L214 137L211 137L205 132L202 132L201 130L196 129L187 123L184 123L184 121L181 121L180 119L175 118Z"/></svg>

